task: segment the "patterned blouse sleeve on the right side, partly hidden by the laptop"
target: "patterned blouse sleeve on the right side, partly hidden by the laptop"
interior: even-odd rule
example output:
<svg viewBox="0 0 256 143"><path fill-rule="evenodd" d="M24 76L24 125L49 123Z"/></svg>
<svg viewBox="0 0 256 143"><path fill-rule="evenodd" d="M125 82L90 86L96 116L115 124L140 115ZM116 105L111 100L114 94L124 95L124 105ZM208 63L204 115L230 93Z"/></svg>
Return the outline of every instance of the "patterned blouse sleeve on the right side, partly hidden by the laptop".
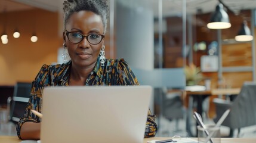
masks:
<svg viewBox="0 0 256 143"><path fill-rule="evenodd" d="M129 68L128 64L123 58L118 63L118 84L119 85L140 85L137 78ZM152 115L150 109L147 113L147 123L144 138L153 137L157 132L157 125L155 122L155 115Z"/></svg>

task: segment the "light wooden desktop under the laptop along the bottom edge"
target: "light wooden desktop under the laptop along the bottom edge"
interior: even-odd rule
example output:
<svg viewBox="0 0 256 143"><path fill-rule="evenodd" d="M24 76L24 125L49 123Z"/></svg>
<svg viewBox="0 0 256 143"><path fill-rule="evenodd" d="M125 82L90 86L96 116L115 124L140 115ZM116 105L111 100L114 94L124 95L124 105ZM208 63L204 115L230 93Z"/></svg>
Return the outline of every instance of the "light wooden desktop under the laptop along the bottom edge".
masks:
<svg viewBox="0 0 256 143"><path fill-rule="evenodd" d="M146 138L144 143L151 140L164 140L169 138ZM196 138L193 138L196 139ZM17 136L0 136L0 142L2 143L19 143L21 140ZM256 138L221 138L221 143L255 143Z"/></svg>

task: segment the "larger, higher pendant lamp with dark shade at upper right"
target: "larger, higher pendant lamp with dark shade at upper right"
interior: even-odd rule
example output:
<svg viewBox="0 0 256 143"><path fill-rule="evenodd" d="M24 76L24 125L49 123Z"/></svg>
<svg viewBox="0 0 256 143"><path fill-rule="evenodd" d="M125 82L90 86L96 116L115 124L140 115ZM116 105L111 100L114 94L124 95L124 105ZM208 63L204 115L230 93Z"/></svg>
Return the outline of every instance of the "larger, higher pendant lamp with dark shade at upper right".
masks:
<svg viewBox="0 0 256 143"><path fill-rule="evenodd" d="M215 12L212 14L211 22L207 24L208 29L227 29L231 27L229 15L223 9L223 4L216 6Z"/></svg>

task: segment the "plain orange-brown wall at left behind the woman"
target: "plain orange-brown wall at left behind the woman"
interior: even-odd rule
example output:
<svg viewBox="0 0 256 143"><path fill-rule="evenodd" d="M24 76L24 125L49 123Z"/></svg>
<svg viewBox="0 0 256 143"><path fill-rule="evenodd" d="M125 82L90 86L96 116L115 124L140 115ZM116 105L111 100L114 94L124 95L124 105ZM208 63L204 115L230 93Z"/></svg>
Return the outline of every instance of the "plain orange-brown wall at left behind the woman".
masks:
<svg viewBox="0 0 256 143"><path fill-rule="evenodd" d="M33 9L0 14L7 17L8 43L0 42L0 85L14 85L16 82L32 82L43 64L57 62L58 48L63 39L58 36L58 13ZM0 23L0 32L3 23ZM13 38L14 29L20 31L20 38ZM30 41L36 32L38 41Z"/></svg>

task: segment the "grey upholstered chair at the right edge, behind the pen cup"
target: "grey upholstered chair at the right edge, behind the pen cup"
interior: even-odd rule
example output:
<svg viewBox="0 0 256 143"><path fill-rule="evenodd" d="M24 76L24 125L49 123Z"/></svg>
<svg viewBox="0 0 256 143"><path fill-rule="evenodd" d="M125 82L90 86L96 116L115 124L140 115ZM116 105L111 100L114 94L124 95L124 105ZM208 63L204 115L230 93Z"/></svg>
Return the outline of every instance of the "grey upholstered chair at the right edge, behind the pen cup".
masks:
<svg viewBox="0 0 256 143"><path fill-rule="evenodd" d="M214 122L217 122L224 111L230 108L229 116L222 123L223 126L230 128L229 137L233 137L233 131L240 128L256 125L256 83L245 82L238 96L233 101L222 100L215 98L215 108L217 117Z"/></svg>

